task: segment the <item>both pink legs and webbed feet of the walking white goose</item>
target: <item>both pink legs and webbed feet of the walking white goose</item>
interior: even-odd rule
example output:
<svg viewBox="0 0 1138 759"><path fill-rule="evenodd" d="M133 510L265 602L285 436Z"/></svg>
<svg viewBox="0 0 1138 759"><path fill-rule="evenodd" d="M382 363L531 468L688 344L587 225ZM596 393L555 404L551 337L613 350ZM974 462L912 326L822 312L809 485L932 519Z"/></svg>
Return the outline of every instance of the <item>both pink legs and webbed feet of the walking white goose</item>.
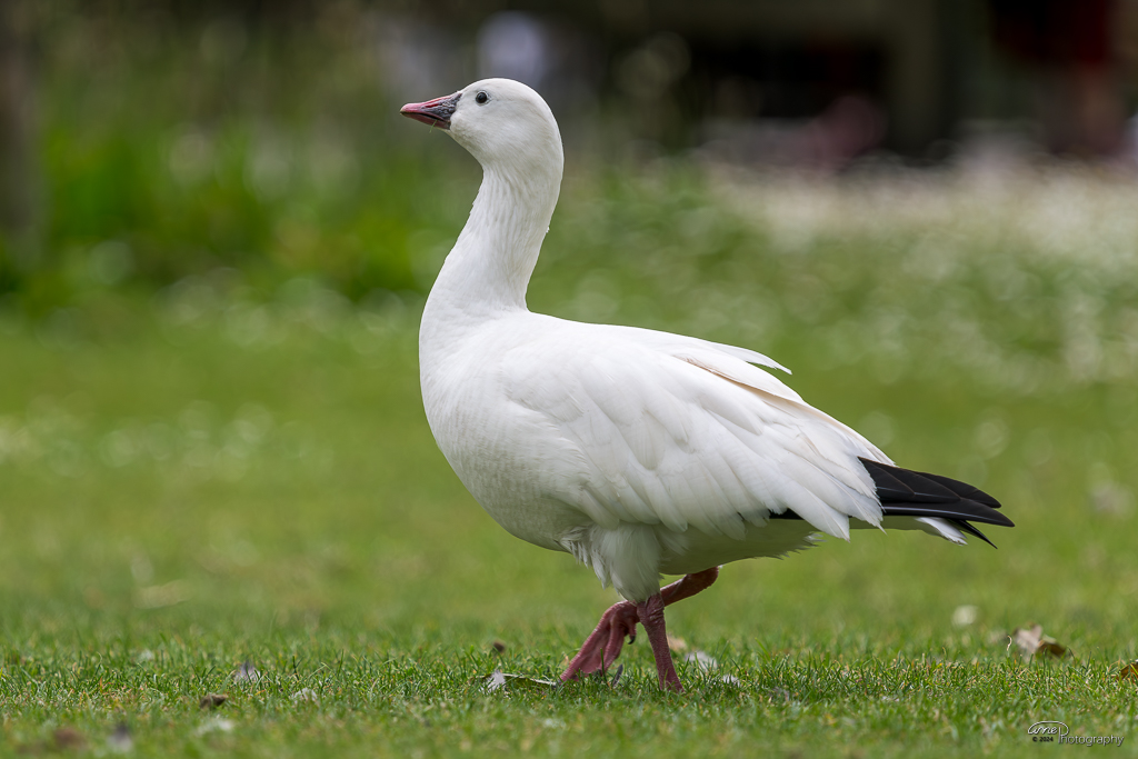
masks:
<svg viewBox="0 0 1138 759"><path fill-rule="evenodd" d="M629 601L621 601L613 604L601 614L601 621L597 622L596 629L585 638L580 651L569 662L568 669L562 673L561 680L568 682L579 675L588 675L597 670L604 671L620 655L620 650L625 645L625 636L628 636L629 643L634 643L636 641L636 624L644 621L644 629L649 634L652 653L655 655L657 669L660 674L660 686L679 688L679 679L676 677L676 668L671 663L668 636L663 627L663 607L695 595L715 583L717 577L719 577L719 568L712 567L694 575L685 575L644 603L634 604ZM653 599L659 600L658 611L655 611L654 605L649 605L653 604ZM657 616L659 620L655 619ZM652 619L652 626L649 625L649 617ZM657 632L653 633L653 630ZM660 641L663 645L662 659L658 647ZM670 678L667 677L668 671L671 673Z"/></svg>

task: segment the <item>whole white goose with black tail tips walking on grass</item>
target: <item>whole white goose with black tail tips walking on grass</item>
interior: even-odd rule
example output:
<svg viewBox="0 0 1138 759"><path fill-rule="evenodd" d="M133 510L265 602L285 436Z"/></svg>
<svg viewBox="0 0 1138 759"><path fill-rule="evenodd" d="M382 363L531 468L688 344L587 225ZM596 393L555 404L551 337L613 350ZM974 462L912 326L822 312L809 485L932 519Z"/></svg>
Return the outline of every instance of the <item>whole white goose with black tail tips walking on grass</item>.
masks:
<svg viewBox="0 0 1138 759"><path fill-rule="evenodd" d="M561 676L603 670L644 625L660 686L683 690L663 608L719 566L781 556L816 533L921 529L987 541L999 503L890 465L745 348L530 313L529 282L556 205L556 122L525 84L490 79L401 113L447 130L483 165L470 218L419 331L431 431L483 508L511 534L589 564L627 601L601 617ZM851 521L852 520L852 521ZM684 575L660 587L660 575Z"/></svg>

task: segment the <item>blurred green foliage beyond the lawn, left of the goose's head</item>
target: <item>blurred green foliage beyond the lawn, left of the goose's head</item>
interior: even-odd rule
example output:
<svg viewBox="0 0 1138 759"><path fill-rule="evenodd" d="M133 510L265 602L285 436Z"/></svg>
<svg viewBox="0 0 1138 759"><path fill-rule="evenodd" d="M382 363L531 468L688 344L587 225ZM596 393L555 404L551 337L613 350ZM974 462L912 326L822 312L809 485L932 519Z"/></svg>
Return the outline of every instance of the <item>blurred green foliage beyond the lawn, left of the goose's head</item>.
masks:
<svg viewBox="0 0 1138 759"><path fill-rule="evenodd" d="M46 16L42 255L0 255L0 288L33 313L217 267L277 283L319 272L356 298L422 289L417 232L461 223L469 201L452 201L447 174L465 190L476 167L452 171L398 117L376 23Z"/></svg>

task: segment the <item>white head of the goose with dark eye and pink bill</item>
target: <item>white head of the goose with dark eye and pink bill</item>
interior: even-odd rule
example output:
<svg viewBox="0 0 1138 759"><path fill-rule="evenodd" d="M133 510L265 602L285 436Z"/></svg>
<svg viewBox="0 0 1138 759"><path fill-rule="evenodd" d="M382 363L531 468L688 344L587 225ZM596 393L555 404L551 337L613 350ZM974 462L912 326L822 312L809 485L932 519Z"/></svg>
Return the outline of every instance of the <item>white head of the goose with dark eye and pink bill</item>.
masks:
<svg viewBox="0 0 1138 759"><path fill-rule="evenodd" d="M484 168L555 172L560 179L558 123L542 96L521 82L481 80L454 94L409 102L399 113L446 130Z"/></svg>

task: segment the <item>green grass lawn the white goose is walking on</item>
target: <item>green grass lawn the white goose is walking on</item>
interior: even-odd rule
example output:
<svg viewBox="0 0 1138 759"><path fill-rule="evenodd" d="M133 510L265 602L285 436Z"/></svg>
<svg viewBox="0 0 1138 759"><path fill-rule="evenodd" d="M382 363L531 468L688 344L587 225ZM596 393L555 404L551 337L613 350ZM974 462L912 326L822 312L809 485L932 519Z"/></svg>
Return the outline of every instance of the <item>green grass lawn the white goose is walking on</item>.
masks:
<svg viewBox="0 0 1138 759"><path fill-rule="evenodd" d="M916 225L889 215L910 198L853 185L780 226L748 187L720 197L686 170L571 179L535 310L764 350L1017 523L990 530L998 551L858 531L726 567L669 609L718 662L681 663L684 695L657 690L641 644L615 686L486 691L495 669L554 677L613 595L451 473L418 396L414 296L353 306L220 272L7 313L0 753L100 754L125 724L156 757L1003 757L1036 756L1026 729L1054 719L1135 756L1138 685L1116 674L1138 657L1138 278L1124 248L1085 255L1116 230L1017 237L1054 190L1037 184ZM957 626L962 605L976 617ZM1009 654L1031 621L1073 655ZM246 661L258 678L234 679ZM203 711L207 693L228 700Z"/></svg>

